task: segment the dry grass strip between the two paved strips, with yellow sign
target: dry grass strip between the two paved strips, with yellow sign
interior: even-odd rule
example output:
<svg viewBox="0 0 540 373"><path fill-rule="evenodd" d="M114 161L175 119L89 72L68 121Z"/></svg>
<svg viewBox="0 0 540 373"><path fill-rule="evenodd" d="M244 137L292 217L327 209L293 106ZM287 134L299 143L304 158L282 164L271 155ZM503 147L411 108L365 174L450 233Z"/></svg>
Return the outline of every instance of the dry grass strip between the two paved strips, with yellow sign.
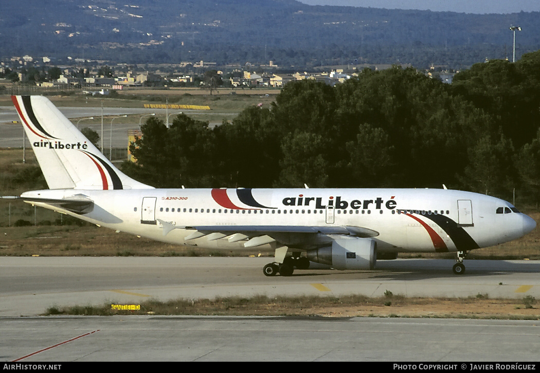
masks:
<svg viewBox="0 0 540 373"><path fill-rule="evenodd" d="M389 303L390 300L390 303ZM99 307L51 307L46 315L221 315L221 316L325 316L325 317L451 317L540 320L540 310L523 300L469 298L407 298L400 295L367 297L295 296L218 297L140 303L140 310ZM535 301L536 303L536 301Z"/></svg>

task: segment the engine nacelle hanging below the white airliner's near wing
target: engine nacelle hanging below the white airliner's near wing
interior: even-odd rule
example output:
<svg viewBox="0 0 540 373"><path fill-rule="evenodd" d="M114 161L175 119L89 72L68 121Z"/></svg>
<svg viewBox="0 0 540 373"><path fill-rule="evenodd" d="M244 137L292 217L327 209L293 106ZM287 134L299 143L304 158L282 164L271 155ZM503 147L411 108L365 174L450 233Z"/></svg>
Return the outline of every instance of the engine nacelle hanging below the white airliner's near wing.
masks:
<svg viewBox="0 0 540 373"><path fill-rule="evenodd" d="M369 238L343 236L332 241L332 246L309 250L312 262L335 269L373 269L377 261L377 242Z"/></svg>

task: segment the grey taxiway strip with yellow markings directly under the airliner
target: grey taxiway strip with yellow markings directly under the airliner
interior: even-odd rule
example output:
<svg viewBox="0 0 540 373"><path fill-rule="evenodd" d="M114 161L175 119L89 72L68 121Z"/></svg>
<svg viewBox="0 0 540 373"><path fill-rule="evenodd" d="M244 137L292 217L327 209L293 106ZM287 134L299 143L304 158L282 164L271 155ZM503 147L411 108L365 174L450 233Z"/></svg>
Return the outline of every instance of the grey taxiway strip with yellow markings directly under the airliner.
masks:
<svg viewBox="0 0 540 373"><path fill-rule="evenodd" d="M540 299L539 261L377 261L374 271L295 270L267 277L268 257L2 257L0 316L35 316L51 306L213 299L216 296L362 294Z"/></svg>

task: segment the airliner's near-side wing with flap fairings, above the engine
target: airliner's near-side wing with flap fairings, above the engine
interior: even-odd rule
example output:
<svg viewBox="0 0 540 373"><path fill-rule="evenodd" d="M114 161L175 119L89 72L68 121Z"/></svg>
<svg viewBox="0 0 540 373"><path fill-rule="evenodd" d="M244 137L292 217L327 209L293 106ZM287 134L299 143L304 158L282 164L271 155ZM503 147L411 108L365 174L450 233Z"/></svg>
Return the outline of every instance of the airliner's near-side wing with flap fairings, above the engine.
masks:
<svg viewBox="0 0 540 373"><path fill-rule="evenodd" d="M193 230L185 241L206 237L207 240L227 238L229 242L244 242L244 247L257 247L280 242L283 245L294 245L294 242L305 242L306 235L342 234L361 238L375 237L379 232L355 226L174 226L158 219L163 226L163 235L171 230L182 228Z"/></svg>

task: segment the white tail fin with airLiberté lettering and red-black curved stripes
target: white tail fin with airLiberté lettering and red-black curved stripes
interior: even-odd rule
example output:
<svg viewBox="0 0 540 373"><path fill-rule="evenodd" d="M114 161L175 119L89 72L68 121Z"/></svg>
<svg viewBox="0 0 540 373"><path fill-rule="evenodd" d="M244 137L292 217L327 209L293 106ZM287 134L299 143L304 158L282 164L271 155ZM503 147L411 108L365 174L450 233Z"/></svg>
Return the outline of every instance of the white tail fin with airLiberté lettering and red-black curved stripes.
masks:
<svg viewBox="0 0 540 373"><path fill-rule="evenodd" d="M50 189L152 188L114 167L48 98L11 100Z"/></svg>

